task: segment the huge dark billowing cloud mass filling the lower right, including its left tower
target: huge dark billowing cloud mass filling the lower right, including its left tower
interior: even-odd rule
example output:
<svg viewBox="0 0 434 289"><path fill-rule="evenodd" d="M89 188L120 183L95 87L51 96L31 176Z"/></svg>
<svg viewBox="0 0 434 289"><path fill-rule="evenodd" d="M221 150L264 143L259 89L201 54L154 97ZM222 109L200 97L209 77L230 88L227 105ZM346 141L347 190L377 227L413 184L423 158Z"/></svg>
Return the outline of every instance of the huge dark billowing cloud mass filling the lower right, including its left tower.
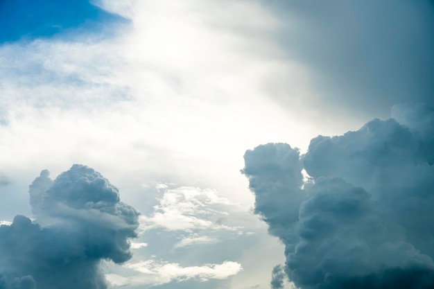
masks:
<svg viewBox="0 0 434 289"><path fill-rule="evenodd" d="M299 288L433 288L434 110L397 105L392 116L316 137L300 157L281 143L245 153L255 212Z"/></svg>

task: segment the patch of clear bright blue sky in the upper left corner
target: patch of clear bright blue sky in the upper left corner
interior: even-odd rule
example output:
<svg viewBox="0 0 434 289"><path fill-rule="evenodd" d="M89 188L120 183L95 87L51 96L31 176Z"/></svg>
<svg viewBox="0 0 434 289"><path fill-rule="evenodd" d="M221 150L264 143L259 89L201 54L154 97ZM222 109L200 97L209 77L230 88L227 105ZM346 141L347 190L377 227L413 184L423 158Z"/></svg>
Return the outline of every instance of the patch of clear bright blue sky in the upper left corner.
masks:
<svg viewBox="0 0 434 289"><path fill-rule="evenodd" d="M0 0L0 44L73 33L77 28L95 32L104 24L121 21L125 19L89 0Z"/></svg>

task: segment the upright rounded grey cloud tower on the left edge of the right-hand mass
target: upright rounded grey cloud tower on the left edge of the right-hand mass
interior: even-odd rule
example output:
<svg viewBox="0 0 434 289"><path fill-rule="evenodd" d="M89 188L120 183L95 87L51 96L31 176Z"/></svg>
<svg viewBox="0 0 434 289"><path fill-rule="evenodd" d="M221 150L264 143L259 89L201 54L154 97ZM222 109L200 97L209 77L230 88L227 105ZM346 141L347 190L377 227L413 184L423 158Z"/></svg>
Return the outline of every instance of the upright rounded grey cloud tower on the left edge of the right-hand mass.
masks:
<svg viewBox="0 0 434 289"><path fill-rule="evenodd" d="M244 159L241 172L250 178L250 189L257 195L254 213L263 217L273 234L282 234L288 223L297 221L303 200L300 152L286 143L275 143L248 150Z"/></svg>

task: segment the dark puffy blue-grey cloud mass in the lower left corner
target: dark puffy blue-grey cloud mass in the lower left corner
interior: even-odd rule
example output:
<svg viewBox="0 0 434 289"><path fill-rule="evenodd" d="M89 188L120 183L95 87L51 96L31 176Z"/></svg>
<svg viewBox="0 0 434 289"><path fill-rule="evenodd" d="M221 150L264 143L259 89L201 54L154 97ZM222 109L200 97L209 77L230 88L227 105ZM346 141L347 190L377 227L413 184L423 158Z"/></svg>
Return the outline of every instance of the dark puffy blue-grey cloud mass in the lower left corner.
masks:
<svg viewBox="0 0 434 289"><path fill-rule="evenodd" d="M36 220L0 227L0 288L107 288L100 262L130 259L139 213L87 166L42 170L29 191Z"/></svg>

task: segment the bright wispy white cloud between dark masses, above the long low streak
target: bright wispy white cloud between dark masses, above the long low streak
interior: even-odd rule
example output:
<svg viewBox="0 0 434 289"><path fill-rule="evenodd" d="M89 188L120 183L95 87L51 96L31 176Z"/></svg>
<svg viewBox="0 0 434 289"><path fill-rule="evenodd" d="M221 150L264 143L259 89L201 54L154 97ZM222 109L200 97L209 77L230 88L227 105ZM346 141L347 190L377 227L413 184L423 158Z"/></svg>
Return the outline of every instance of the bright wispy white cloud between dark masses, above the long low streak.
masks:
<svg viewBox="0 0 434 289"><path fill-rule="evenodd" d="M202 229L234 229L220 225L220 216L227 215L219 208L232 205L211 189L184 186L167 189L150 216L141 216L144 230L163 228L168 231L193 232Z"/></svg>

